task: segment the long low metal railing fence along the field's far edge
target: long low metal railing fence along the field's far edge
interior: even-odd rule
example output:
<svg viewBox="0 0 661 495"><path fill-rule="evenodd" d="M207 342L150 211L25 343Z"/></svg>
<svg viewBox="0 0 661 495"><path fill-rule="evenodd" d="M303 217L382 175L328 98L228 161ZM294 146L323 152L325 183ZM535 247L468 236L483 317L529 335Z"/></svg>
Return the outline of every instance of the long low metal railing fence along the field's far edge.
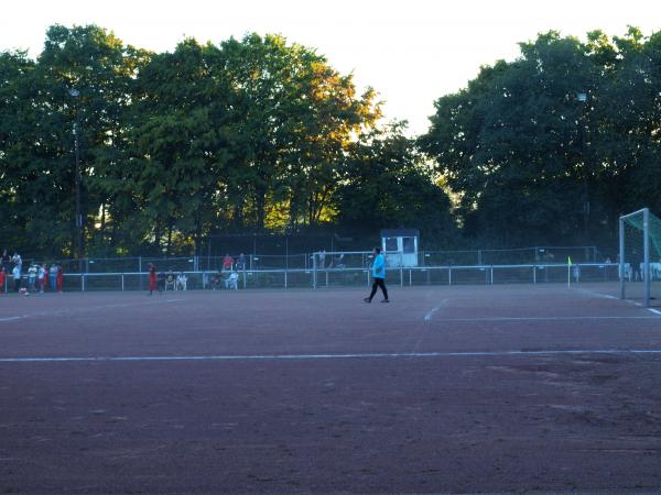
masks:
<svg viewBox="0 0 661 495"><path fill-rule="evenodd" d="M498 285L498 284L556 284L585 282L617 282L619 266L614 263L521 264L418 266L389 270L387 283L399 286L432 285ZM188 290L224 289L231 272L182 271L187 277ZM360 287L372 283L369 268L293 268L245 270L238 274L238 288L326 288ZM147 272L65 274L65 292L147 290ZM28 286L23 276L22 286ZM11 277L6 290L11 290ZM46 288L47 290L47 288Z"/></svg>

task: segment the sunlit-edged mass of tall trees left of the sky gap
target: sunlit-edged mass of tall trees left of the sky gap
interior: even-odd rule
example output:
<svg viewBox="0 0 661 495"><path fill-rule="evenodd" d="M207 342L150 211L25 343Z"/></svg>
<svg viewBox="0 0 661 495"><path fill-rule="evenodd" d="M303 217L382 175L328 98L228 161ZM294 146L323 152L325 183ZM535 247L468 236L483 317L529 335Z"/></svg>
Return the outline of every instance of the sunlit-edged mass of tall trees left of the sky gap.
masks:
<svg viewBox="0 0 661 495"><path fill-rule="evenodd" d="M401 128L378 135L376 98L279 35L150 53L95 25L54 25L36 61L0 54L0 241L76 254L74 129L86 254L188 253L230 232L377 233L418 227L419 213L447 223L414 143ZM366 158L372 145L399 160L384 165L398 177L357 204L360 164L381 166ZM438 202L412 202L411 184Z"/></svg>

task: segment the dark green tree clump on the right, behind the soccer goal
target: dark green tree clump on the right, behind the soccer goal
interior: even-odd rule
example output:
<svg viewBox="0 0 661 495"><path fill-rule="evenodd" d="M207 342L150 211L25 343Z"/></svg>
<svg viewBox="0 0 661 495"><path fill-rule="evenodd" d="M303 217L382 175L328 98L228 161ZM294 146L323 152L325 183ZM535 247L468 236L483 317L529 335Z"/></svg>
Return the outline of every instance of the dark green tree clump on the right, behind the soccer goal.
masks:
<svg viewBox="0 0 661 495"><path fill-rule="evenodd" d="M617 218L661 211L661 33L556 32L436 101L421 147L489 245L615 245Z"/></svg>

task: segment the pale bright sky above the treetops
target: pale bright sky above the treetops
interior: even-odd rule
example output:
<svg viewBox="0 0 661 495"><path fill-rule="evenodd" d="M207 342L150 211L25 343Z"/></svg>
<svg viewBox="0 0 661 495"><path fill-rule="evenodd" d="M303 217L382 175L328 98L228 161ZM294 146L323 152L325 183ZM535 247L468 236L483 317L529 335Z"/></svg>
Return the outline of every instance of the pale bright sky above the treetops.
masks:
<svg viewBox="0 0 661 495"><path fill-rule="evenodd" d="M513 61L519 42L549 30L584 37L635 25L661 31L660 0L24 0L3 2L0 51L36 57L52 24L98 24L127 44L172 51L186 36L219 43L280 33L317 50L359 89L373 87L388 120L424 133L434 101L466 87L483 65Z"/></svg>

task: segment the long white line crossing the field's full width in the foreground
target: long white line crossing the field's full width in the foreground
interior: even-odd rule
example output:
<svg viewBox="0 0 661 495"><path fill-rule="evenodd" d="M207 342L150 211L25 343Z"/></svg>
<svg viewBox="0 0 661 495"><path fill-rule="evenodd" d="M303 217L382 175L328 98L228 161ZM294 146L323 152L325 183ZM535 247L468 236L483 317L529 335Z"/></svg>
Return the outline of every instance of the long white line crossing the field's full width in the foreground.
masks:
<svg viewBox="0 0 661 495"><path fill-rule="evenodd" d="M142 355L142 356L52 356L0 358L3 363L150 362L150 361L314 361L398 358L507 358L530 355L661 354L661 349L579 349L560 351L395 352L365 354L248 354L248 355Z"/></svg>

